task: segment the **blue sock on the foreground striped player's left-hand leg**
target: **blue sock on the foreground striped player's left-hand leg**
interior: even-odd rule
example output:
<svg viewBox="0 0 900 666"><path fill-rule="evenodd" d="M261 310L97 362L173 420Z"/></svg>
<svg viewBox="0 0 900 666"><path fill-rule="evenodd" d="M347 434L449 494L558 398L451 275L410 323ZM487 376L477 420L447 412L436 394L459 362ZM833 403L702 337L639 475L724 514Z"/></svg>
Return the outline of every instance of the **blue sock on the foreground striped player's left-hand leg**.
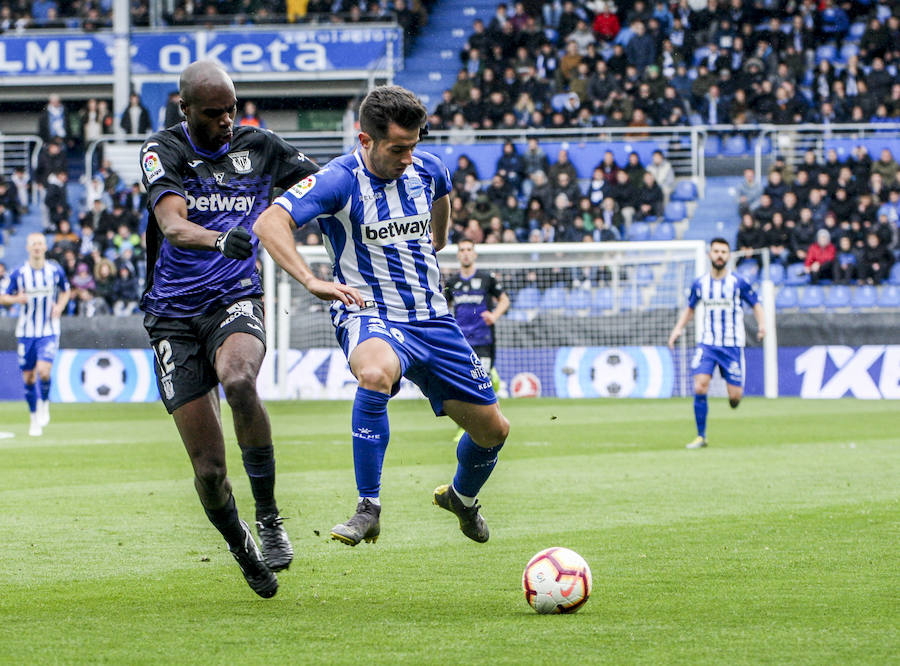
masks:
<svg viewBox="0 0 900 666"><path fill-rule="evenodd" d="M378 497L381 467L391 438L387 403L391 396L369 389L356 389L353 401L353 467L360 497Z"/></svg>

